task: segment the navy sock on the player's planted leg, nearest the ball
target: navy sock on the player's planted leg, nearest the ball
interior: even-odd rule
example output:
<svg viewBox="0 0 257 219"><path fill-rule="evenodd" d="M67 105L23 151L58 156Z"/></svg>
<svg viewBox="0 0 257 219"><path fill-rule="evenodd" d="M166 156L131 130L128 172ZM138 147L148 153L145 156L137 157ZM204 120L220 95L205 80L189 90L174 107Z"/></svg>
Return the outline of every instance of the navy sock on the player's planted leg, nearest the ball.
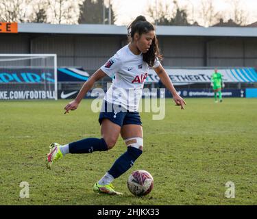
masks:
<svg viewBox="0 0 257 219"><path fill-rule="evenodd" d="M127 151L119 157L108 173L112 175L114 179L121 176L124 172L126 172L129 168L131 168L134 165L134 162L138 157L143 153L143 151L136 149L132 146L127 147Z"/></svg>

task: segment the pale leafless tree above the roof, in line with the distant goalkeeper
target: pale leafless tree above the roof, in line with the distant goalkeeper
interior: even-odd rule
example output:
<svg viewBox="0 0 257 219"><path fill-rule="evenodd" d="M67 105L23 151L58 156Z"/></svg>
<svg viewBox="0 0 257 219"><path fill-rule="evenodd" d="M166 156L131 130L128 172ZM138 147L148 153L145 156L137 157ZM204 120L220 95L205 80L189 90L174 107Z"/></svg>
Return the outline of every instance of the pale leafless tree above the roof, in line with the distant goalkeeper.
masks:
<svg viewBox="0 0 257 219"><path fill-rule="evenodd" d="M222 18L221 12L215 9L213 0L201 0L201 8L199 10L200 18L204 23L205 27L209 27L218 23Z"/></svg>

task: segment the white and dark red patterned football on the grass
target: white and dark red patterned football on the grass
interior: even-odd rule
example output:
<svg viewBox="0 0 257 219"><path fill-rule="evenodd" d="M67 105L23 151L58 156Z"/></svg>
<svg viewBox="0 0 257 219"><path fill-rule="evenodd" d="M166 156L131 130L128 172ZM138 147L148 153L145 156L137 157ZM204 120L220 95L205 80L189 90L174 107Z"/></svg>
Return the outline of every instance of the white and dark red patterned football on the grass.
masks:
<svg viewBox="0 0 257 219"><path fill-rule="evenodd" d="M146 170L136 170L127 179L127 188L135 196L145 196L154 188L154 178Z"/></svg>

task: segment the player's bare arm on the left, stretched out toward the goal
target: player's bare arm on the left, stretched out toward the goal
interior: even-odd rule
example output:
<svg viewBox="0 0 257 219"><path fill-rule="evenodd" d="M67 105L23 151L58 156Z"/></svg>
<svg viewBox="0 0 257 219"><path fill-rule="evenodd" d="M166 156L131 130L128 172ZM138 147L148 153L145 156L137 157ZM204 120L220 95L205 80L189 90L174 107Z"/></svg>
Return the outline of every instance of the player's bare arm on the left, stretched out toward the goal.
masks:
<svg viewBox="0 0 257 219"><path fill-rule="evenodd" d="M66 107L64 107L64 114L69 113L69 110L76 110L79 103L82 101L88 90L92 89L94 86L94 83L96 81L99 81L99 79L102 79L106 76L106 73L99 68L82 86L82 88L79 90L79 93L77 94L76 98L68 103Z"/></svg>

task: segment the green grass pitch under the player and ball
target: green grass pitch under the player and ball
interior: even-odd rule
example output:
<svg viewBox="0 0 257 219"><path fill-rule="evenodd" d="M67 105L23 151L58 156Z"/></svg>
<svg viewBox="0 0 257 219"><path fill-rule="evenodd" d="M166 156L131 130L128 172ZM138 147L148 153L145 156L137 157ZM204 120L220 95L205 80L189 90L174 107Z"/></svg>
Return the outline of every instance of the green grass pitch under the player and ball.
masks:
<svg viewBox="0 0 257 219"><path fill-rule="evenodd" d="M90 100L64 115L69 101L0 102L0 205L256 205L257 99L186 99L186 110L166 101L164 120L141 113L144 153L114 180L123 196L95 194L93 184L126 150L66 155L47 170L51 142L100 137ZM154 189L145 197L127 190L132 170L147 170ZM29 183L29 198L19 185ZM225 183L235 185L226 198Z"/></svg>

